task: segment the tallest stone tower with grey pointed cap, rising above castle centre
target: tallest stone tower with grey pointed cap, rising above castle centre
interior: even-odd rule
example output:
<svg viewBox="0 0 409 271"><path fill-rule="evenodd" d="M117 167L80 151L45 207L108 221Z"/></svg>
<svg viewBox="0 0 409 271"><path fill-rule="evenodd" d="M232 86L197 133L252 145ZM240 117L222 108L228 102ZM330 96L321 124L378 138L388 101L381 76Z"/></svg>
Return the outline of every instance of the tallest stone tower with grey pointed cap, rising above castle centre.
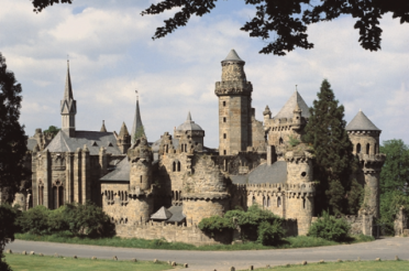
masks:
<svg viewBox="0 0 409 271"><path fill-rule="evenodd" d="M219 154L245 151L252 143L252 83L247 82L244 64L234 50L222 64L222 80L215 83L219 97Z"/></svg>

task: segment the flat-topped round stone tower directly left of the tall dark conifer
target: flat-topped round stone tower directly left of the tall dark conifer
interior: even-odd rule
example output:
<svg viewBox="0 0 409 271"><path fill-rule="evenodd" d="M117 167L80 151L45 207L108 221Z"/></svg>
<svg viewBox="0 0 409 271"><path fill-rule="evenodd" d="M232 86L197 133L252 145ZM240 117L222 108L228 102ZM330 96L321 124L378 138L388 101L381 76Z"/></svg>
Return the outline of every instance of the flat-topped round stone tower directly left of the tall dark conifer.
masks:
<svg viewBox="0 0 409 271"><path fill-rule="evenodd" d="M286 218L297 219L298 235L307 235L314 213L316 187L309 152L287 152Z"/></svg>

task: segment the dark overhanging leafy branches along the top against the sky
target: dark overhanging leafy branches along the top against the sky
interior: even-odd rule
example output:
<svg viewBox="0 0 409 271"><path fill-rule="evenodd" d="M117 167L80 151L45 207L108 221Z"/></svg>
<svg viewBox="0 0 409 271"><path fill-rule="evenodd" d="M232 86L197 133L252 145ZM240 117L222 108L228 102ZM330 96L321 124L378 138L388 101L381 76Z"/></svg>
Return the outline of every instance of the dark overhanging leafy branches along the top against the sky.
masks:
<svg viewBox="0 0 409 271"><path fill-rule="evenodd" d="M194 15L202 17L215 8L218 0L162 0L141 14L161 14L167 10L180 9L173 18L165 20L165 26L157 28L153 40L161 39L185 26ZM34 12L41 12L54 3L71 3L71 0L32 0ZM308 41L308 25L332 21L343 14L356 18L355 29L360 31L360 44L365 50L380 48L382 29L379 19L387 12L409 22L409 1L390 0L244 0L256 9L254 18L241 30L252 37L272 40L259 51L262 54L286 55L296 47L312 48Z"/></svg>

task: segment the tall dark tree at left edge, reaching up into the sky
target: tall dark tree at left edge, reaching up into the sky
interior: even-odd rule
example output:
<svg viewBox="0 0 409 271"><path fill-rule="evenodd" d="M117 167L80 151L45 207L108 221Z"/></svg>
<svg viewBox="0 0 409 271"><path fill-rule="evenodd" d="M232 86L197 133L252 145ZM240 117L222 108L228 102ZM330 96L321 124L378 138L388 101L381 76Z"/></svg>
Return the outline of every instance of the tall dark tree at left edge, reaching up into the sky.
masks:
<svg viewBox="0 0 409 271"><path fill-rule="evenodd" d="M7 69L5 58L0 53L0 189L7 188L11 197L27 174L23 166L27 138L24 126L19 123L21 91L21 85Z"/></svg>

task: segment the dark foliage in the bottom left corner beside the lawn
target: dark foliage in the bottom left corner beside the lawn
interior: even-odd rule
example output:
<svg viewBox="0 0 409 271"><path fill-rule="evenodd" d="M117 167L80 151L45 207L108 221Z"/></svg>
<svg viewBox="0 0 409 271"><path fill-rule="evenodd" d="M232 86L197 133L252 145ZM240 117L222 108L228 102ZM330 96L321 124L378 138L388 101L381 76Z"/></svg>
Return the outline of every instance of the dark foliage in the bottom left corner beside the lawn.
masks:
<svg viewBox="0 0 409 271"><path fill-rule="evenodd" d="M14 241L15 212L10 205L0 205L0 270L9 271L11 268L3 261L3 250L8 242Z"/></svg>

